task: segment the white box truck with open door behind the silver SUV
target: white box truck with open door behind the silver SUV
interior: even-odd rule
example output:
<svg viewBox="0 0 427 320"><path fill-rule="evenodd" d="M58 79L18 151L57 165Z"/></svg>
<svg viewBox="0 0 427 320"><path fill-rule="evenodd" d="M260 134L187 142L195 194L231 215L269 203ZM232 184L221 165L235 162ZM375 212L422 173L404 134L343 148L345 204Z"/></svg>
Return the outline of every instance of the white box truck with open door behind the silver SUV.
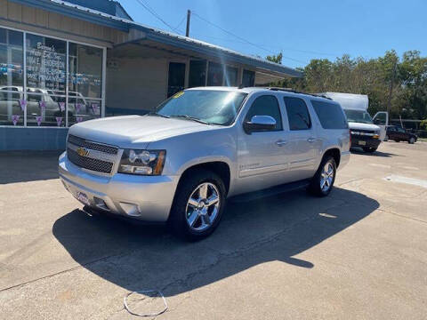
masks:
<svg viewBox="0 0 427 320"><path fill-rule="evenodd" d="M365 94L342 92L322 94L341 104L349 123L351 147L360 147L369 153L375 152L385 138L389 114L380 111L372 118L367 112L369 100Z"/></svg>

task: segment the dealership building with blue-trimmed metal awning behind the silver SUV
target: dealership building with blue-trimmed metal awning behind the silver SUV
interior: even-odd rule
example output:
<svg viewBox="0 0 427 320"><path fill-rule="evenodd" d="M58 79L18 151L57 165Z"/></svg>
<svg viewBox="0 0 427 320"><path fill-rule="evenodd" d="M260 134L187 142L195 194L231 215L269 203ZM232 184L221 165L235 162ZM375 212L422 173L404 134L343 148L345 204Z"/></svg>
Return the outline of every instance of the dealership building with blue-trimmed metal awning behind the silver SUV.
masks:
<svg viewBox="0 0 427 320"><path fill-rule="evenodd" d="M65 148L68 127L144 114L185 88L293 68L134 22L109 0L0 0L0 150Z"/></svg>

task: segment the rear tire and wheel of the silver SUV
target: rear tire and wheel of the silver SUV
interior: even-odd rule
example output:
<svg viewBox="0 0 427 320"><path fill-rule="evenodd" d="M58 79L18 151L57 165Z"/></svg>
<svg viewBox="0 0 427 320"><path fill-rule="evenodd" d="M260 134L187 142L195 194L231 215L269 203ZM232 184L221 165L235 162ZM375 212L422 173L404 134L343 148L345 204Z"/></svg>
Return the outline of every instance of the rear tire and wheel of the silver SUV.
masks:
<svg viewBox="0 0 427 320"><path fill-rule="evenodd" d="M314 196L327 196L334 188L336 163L333 156L325 156L311 179L309 191Z"/></svg>

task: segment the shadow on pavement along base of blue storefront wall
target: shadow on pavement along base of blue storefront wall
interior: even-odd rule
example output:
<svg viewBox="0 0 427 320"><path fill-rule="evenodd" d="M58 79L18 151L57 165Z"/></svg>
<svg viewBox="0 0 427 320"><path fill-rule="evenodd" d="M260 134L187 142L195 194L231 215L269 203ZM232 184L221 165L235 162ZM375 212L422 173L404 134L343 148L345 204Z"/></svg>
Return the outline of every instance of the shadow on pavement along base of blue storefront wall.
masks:
<svg viewBox="0 0 427 320"><path fill-rule="evenodd" d="M62 151L0 152L0 184L59 178Z"/></svg>

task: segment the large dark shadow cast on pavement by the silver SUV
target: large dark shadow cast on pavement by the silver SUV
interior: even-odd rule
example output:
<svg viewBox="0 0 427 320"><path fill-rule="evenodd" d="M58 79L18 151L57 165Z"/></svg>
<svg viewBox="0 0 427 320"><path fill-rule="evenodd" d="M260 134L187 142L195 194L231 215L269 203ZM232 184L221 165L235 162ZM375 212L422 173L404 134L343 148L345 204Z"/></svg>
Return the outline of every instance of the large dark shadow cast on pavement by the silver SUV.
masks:
<svg viewBox="0 0 427 320"><path fill-rule="evenodd" d="M84 268L129 291L159 289L172 296L264 262L297 268L315 261L294 257L364 219L378 208L357 192L335 188L326 198L303 190L228 204L212 236L185 243L165 227L141 227L75 210L56 220L53 235Z"/></svg>

